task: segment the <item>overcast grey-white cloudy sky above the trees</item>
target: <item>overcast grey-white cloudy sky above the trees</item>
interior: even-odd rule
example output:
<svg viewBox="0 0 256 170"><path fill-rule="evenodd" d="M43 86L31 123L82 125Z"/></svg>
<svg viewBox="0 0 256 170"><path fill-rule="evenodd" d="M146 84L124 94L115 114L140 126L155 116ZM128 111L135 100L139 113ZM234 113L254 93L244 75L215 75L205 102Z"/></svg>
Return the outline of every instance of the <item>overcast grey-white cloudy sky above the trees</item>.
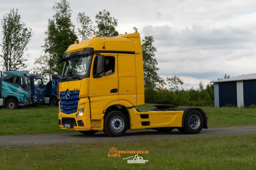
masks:
<svg viewBox="0 0 256 170"><path fill-rule="evenodd" d="M255 0L69 2L74 25L78 25L78 12L85 12L94 21L95 15L106 9L118 20L119 33L131 33L136 26L141 37L152 35L160 76L180 76L185 88L197 87L200 81L208 84L225 73L256 73ZM52 6L54 0L1 0L0 16L18 8L22 22L34 31L26 52L30 55L28 68L42 51L47 20L54 15Z"/></svg>

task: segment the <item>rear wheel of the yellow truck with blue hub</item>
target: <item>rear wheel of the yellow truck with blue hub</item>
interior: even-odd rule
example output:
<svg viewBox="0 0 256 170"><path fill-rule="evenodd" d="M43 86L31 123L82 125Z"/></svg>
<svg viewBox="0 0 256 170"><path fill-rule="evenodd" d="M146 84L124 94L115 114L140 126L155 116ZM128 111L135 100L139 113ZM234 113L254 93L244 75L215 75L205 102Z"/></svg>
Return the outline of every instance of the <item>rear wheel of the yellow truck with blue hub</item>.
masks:
<svg viewBox="0 0 256 170"><path fill-rule="evenodd" d="M197 110L190 111L186 114L184 127L185 133L196 134L199 133L204 125L204 117L202 113Z"/></svg>

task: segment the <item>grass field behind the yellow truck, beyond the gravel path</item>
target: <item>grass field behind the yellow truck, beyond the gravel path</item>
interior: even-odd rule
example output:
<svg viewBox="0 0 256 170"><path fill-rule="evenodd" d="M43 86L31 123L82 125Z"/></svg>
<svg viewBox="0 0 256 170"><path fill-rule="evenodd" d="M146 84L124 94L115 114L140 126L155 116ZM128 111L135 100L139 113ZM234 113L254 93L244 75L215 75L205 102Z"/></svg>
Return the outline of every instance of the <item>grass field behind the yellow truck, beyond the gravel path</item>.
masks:
<svg viewBox="0 0 256 170"><path fill-rule="evenodd" d="M137 106L151 109L154 104ZM202 107L209 117L209 127L234 125L256 125L256 109L235 107ZM48 105L20 107L16 110L0 108L0 135L22 135L36 133L68 133L58 126L58 107Z"/></svg>

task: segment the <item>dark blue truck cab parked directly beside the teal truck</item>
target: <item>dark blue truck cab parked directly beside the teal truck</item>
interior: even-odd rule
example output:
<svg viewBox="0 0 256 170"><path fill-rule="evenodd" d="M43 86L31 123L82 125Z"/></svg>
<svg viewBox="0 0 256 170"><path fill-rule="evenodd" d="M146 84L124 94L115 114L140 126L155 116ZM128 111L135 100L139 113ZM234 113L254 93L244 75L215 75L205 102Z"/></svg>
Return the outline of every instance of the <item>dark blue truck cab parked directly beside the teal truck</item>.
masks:
<svg viewBox="0 0 256 170"><path fill-rule="evenodd" d="M30 74L32 104L44 102L44 83L41 75Z"/></svg>

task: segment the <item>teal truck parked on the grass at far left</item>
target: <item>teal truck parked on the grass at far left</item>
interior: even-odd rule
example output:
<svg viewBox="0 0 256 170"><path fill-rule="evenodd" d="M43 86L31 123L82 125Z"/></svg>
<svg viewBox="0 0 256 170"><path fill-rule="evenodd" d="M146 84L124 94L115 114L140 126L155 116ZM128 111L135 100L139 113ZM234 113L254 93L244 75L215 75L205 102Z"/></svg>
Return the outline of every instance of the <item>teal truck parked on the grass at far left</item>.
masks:
<svg viewBox="0 0 256 170"><path fill-rule="evenodd" d="M31 104L31 82L26 72L0 72L0 106L16 109Z"/></svg>

